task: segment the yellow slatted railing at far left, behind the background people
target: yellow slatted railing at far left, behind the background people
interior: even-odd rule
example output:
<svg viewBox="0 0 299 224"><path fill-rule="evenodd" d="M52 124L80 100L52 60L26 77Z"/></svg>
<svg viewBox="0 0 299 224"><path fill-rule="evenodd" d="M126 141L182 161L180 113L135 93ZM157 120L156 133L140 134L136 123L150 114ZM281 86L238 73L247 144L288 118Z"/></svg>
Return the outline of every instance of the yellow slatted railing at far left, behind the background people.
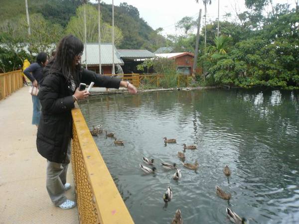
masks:
<svg viewBox="0 0 299 224"><path fill-rule="evenodd" d="M0 100L23 86L22 70L0 74Z"/></svg>

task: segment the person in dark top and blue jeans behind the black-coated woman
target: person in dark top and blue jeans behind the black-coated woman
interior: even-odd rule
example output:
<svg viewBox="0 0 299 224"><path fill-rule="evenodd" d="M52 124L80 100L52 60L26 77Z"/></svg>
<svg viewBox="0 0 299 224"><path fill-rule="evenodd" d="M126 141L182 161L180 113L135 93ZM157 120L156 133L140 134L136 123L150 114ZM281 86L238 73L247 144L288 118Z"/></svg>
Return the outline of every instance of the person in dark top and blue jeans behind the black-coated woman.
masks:
<svg viewBox="0 0 299 224"><path fill-rule="evenodd" d="M36 56L36 62L26 68L23 73L31 81L32 86L38 88L40 81L42 80L42 69L47 65L49 60L48 55L45 52L39 52ZM38 127L41 105L37 96L32 95L33 114L32 124Z"/></svg>

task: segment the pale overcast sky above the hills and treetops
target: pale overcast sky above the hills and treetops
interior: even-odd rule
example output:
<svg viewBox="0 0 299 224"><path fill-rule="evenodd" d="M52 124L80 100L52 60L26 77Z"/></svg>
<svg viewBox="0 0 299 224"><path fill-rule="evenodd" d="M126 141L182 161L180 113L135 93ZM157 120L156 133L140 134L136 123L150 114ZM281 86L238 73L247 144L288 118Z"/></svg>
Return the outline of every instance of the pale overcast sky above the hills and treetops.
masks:
<svg viewBox="0 0 299 224"><path fill-rule="evenodd" d="M91 0L97 2L97 0ZM107 4L112 4L112 0L102 0ZM175 30L175 22L178 22L184 16L198 17L199 9L204 14L204 6L202 0L196 3L195 0L114 0L114 5L120 5L121 2L127 2L138 8L140 17L153 28L163 28L163 35L178 34ZM220 21L226 13L233 16L238 12L246 10L245 0L220 0ZM274 3L289 3L295 7L295 0L273 0ZM236 9L235 9L236 8ZM207 22L216 20L218 17L218 0L212 0L211 5L207 5ZM195 30L196 31L196 30Z"/></svg>

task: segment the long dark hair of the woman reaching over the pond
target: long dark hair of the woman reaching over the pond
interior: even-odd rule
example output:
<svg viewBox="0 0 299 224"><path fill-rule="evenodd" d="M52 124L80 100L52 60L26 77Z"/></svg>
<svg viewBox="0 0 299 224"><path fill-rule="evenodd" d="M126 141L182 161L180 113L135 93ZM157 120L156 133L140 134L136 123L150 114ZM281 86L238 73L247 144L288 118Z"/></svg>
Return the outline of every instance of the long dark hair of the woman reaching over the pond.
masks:
<svg viewBox="0 0 299 224"><path fill-rule="evenodd" d="M74 58L76 55L81 54L83 49L84 45L77 37L71 34L63 37L56 48L51 70L62 72L66 80L69 80L72 76L74 81L78 83L78 72L81 65L74 65Z"/></svg>

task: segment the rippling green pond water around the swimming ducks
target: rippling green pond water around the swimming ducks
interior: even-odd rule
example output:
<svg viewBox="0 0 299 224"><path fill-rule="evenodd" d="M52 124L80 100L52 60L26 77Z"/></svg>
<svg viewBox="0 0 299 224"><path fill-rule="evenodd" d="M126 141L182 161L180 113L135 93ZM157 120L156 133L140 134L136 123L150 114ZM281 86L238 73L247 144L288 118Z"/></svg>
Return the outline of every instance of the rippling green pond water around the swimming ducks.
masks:
<svg viewBox="0 0 299 224"><path fill-rule="evenodd" d="M204 90L90 97L80 105L89 127L102 124L125 140L115 146L94 137L136 224L171 223L180 209L185 224L229 224L215 186L230 192L229 205L250 223L299 223L299 94L277 90ZM164 145L163 137L176 138ZM197 173L177 157L198 161ZM142 157L154 158L156 175L144 175ZM177 163L172 179L160 162ZM223 167L228 164L228 179ZM144 164L145 165L145 164ZM163 193L173 199L163 208Z"/></svg>

